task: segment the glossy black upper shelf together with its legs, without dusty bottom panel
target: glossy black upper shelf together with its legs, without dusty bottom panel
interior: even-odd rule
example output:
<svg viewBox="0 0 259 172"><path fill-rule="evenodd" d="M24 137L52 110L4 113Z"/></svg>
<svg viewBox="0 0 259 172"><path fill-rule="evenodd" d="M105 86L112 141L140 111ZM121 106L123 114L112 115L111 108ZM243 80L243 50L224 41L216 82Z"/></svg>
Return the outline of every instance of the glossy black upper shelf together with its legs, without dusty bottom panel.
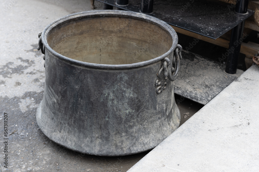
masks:
<svg viewBox="0 0 259 172"><path fill-rule="evenodd" d="M134 12L147 12L158 19L190 32L212 39L233 28L229 49L226 72L235 74L241 43L236 47L236 41L242 38L244 20L254 11L247 10L248 0L237 1L236 6L204 0L97 0L104 3L104 9L117 7ZM154 3L154 4L153 4ZM122 5L118 5L122 4ZM127 5L124 5L127 4ZM152 13L149 13L152 11ZM240 42L240 41L239 41Z"/></svg>

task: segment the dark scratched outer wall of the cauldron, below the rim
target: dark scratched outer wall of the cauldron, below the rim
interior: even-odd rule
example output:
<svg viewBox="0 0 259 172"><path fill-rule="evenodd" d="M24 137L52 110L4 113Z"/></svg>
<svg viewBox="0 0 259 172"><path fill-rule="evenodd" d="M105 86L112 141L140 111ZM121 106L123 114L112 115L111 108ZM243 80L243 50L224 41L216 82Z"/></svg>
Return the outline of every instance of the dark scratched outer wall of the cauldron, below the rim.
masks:
<svg viewBox="0 0 259 172"><path fill-rule="evenodd" d="M45 52L44 98L37 122L54 142L77 152L122 156L154 148L180 123L174 82L156 94L158 61L129 69L75 65Z"/></svg>

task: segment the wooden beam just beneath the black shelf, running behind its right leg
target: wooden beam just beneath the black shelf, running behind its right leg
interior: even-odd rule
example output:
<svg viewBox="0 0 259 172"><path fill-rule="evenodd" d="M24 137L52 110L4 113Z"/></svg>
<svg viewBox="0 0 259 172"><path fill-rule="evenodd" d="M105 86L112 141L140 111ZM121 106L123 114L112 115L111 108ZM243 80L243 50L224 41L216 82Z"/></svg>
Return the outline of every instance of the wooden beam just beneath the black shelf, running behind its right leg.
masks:
<svg viewBox="0 0 259 172"><path fill-rule="evenodd" d="M199 40L203 40L218 46L222 46L225 47L226 49L229 48L229 41L222 39L222 38L217 38L216 40L213 40L211 38L205 37L205 36L201 36L198 35L196 33L193 32L189 32L187 30L175 27L175 26L171 26L172 28L174 28L174 30L178 33L184 34L184 35L188 35L194 38L198 38ZM254 56L254 54L256 54L259 51L259 44L256 43L243 43L241 44L241 49L240 52L243 54L246 54L248 56Z"/></svg>

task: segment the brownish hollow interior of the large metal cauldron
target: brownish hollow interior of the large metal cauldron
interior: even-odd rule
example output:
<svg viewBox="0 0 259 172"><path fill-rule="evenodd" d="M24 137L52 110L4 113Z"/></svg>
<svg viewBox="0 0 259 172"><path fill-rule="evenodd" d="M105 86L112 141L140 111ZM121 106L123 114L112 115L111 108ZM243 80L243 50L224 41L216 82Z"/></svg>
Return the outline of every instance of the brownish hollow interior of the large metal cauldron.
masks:
<svg viewBox="0 0 259 172"><path fill-rule="evenodd" d="M92 17L65 21L47 34L48 45L71 59L121 65L147 61L172 46L168 31L127 17Z"/></svg>

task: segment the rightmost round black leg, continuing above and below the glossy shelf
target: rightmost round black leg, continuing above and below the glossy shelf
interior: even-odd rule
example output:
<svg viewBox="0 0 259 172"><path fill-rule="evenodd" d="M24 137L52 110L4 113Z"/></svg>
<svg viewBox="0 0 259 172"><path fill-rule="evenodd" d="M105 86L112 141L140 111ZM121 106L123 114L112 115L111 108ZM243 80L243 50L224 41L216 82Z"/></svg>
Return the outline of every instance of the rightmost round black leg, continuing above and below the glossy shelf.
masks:
<svg viewBox="0 0 259 172"><path fill-rule="evenodd" d="M245 14L248 8L248 0L238 0L236 3L235 11L240 14ZM232 29L232 34L229 42L226 69L225 72L228 74L235 74L238 67L238 57L240 53L241 43L244 39L244 22L235 26Z"/></svg>

